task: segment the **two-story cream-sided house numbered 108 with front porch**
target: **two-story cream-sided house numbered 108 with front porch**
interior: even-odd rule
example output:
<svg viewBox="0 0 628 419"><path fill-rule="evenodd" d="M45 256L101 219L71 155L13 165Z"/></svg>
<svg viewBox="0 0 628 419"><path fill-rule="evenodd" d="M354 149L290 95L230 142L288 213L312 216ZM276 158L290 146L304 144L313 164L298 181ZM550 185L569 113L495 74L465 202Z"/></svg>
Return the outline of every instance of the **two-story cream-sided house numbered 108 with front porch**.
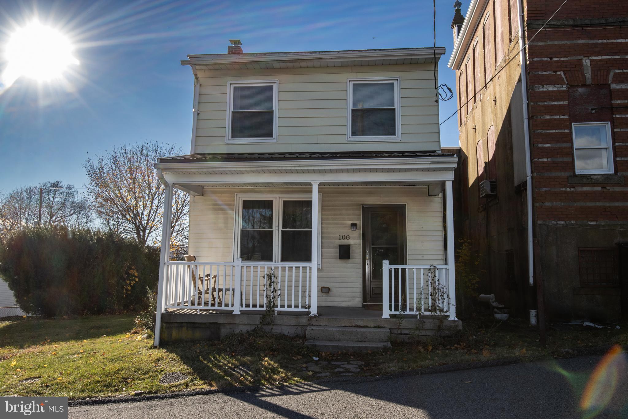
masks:
<svg viewBox="0 0 628 419"><path fill-rule="evenodd" d="M155 344L249 330L269 310L279 332L318 341L333 340L325 327L386 330L391 315L413 315L406 337L458 329L457 156L441 153L435 92L445 49L231 43L181 62L194 76L192 148L155 167L165 226L172 188L191 195L190 256L167 260L164 229Z"/></svg>

